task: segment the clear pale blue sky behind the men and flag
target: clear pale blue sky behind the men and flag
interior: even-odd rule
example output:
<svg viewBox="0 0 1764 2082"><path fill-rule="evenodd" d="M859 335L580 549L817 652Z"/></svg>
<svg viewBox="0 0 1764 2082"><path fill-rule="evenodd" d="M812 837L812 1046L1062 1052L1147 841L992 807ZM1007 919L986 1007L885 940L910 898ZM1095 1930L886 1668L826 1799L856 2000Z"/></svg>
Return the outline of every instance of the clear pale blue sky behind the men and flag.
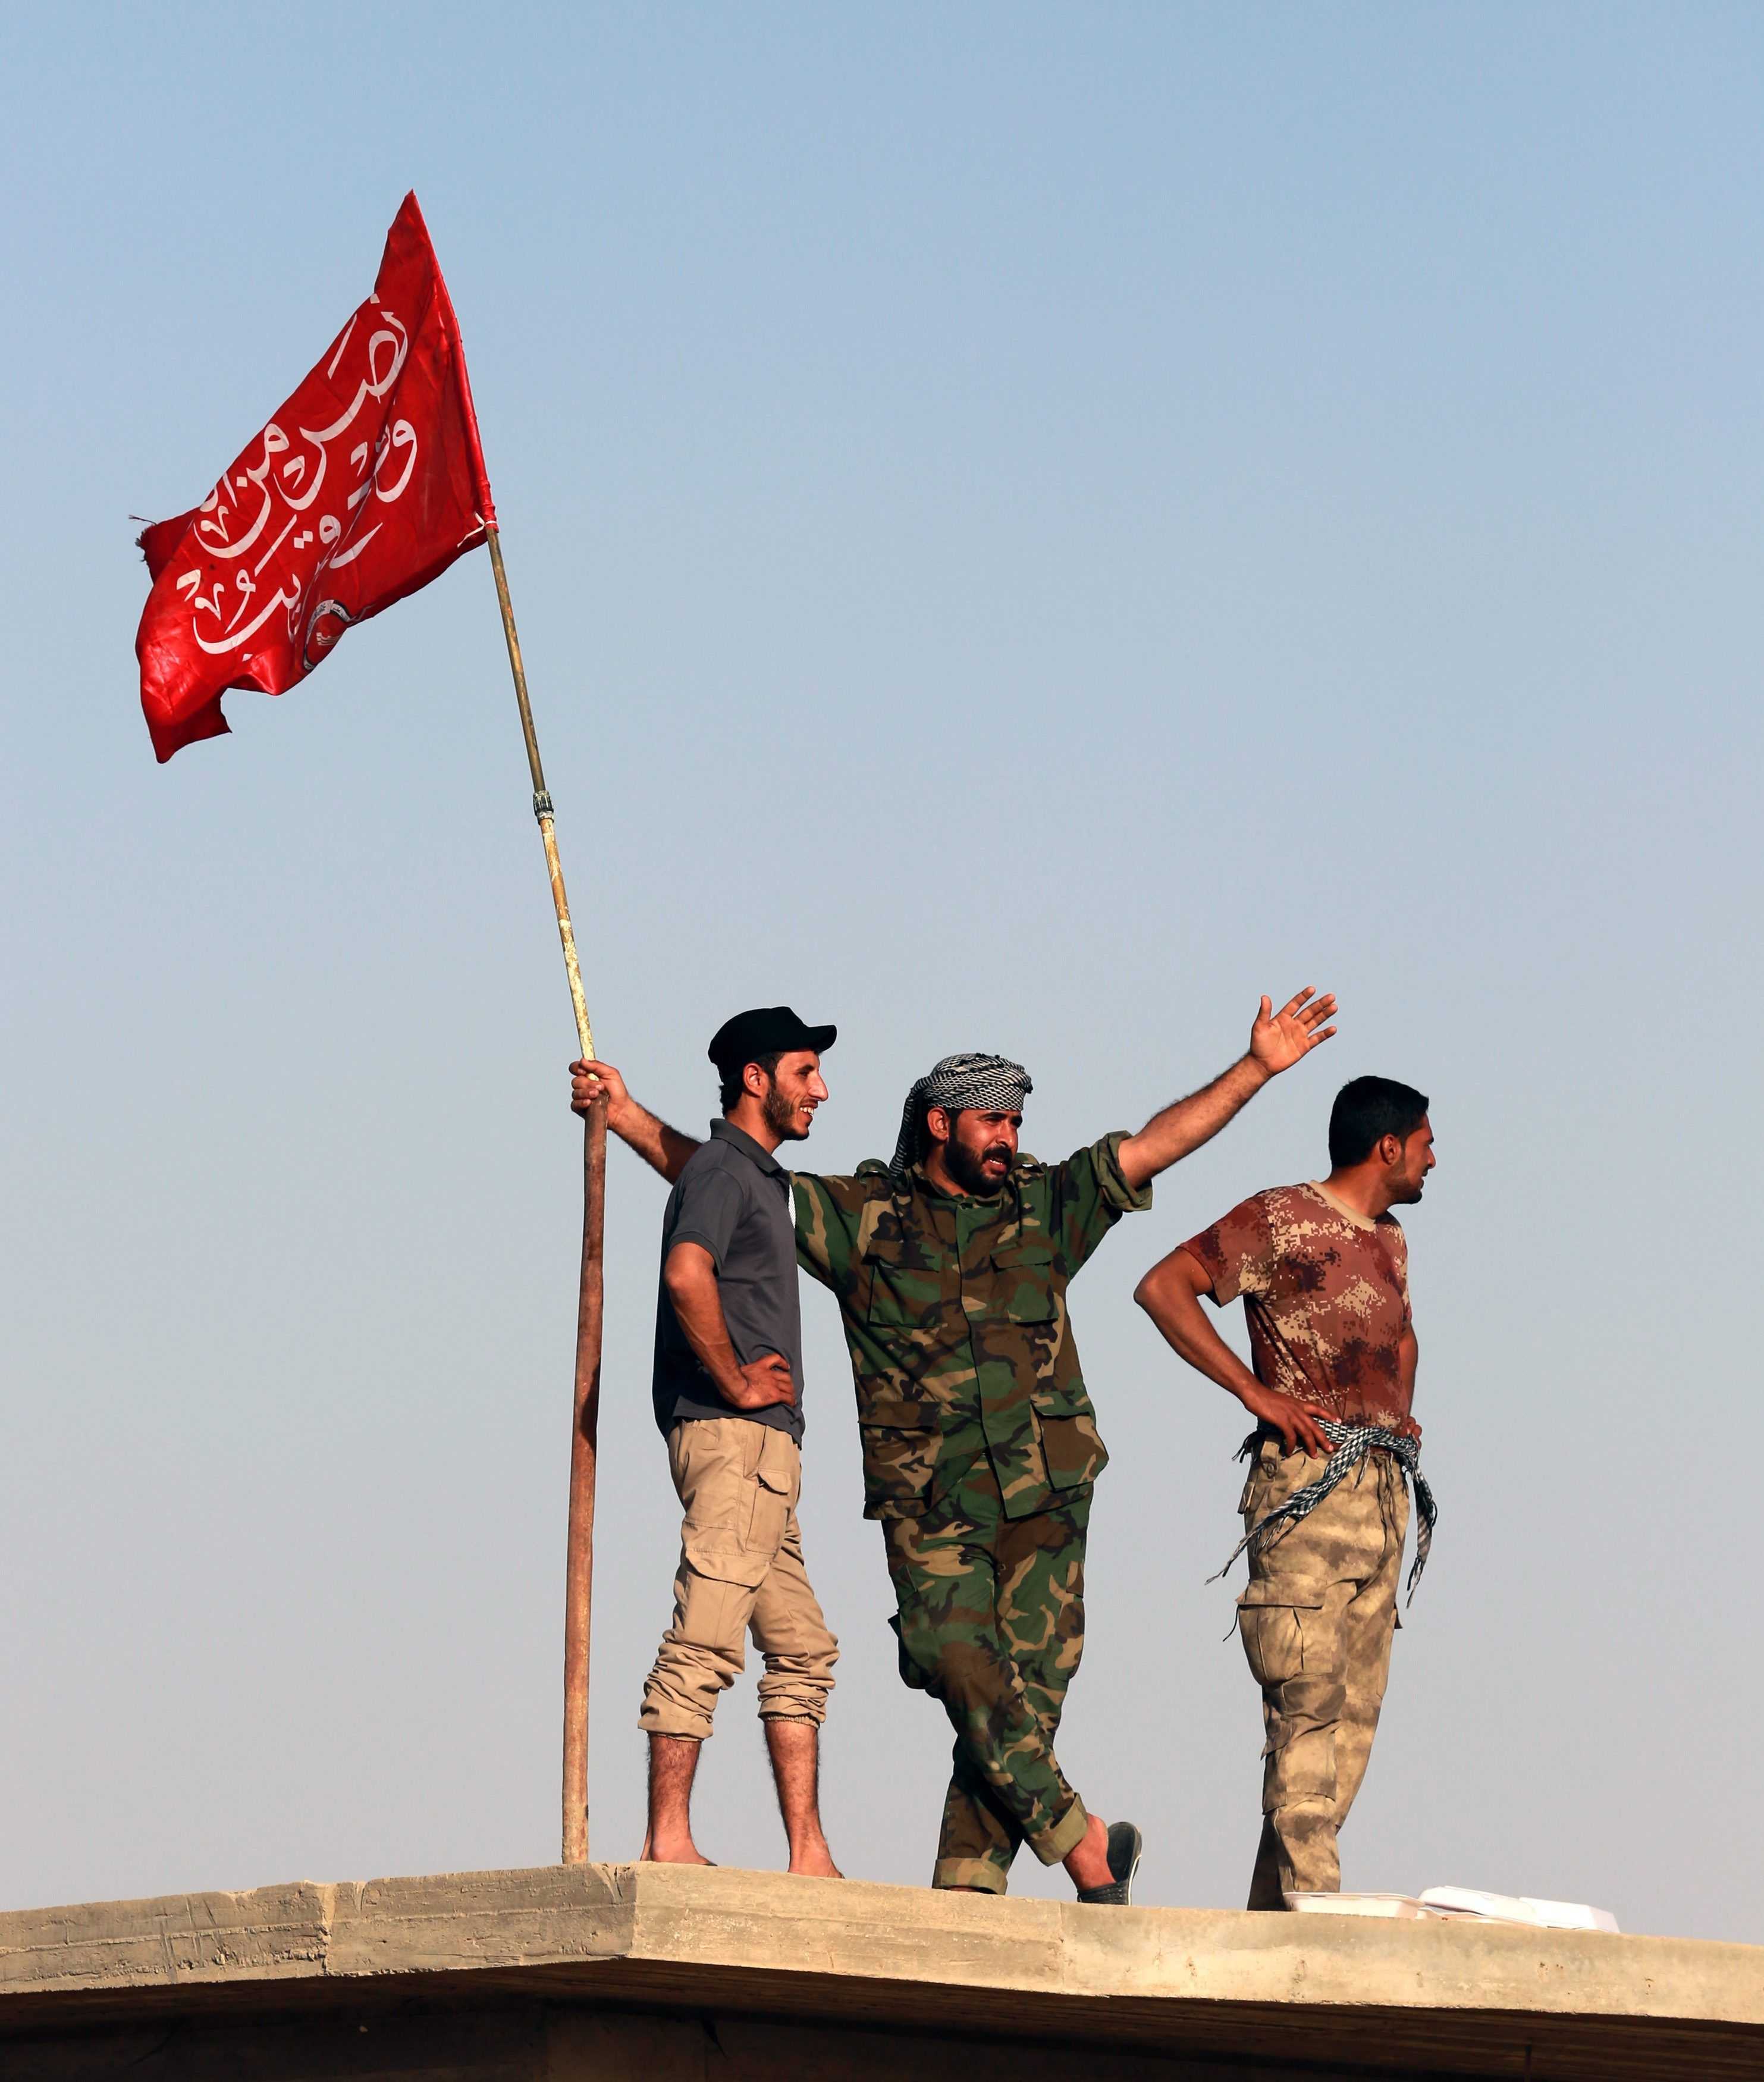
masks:
<svg viewBox="0 0 1764 2082"><path fill-rule="evenodd" d="M1235 1405L1131 1307L1433 1095L1441 1503L1345 1884L1764 1938L1754 8L79 6L0 25L0 1888L556 1855L579 1135L481 556L156 768L131 514L200 498L417 187L604 1053L696 1126L837 1018L806 1162L956 1047L1137 1124L1260 991L1341 1035L1075 1289L1114 1466L1062 1755L1241 1901ZM677 1516L614 1151L594 1847ZM929 1874L808 1291L837 1855ZM775 1863L752 1674L702 1840ZM1023 1888L1064 1882L1025 1868Z"/></svg>

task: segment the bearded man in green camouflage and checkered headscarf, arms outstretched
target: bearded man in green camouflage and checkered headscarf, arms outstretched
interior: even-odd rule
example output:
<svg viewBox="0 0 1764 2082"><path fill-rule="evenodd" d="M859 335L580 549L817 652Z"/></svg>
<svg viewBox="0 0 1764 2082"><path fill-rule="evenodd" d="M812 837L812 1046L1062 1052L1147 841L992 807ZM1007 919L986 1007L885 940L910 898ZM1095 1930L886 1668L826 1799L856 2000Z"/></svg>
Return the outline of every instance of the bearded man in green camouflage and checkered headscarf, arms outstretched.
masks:
<svg viewBox="0 0 1764 2082"><path fill-rule="evenodd" d="M933 1886L1002 1895L1016 1847L1081 1901L1127 1901L1139 1834L1085 1809L1054 1757L1083 1653L1091 1484L1108 1462L1066 1285L1152 1178L1335 1031L1333 997L1264 997L1250 1049L1202 1091L1066 1158L1018 1156L1027 1072L954 1056L908 1093L893 1162L798 1172L798 1262L852 1355L864 1516L881 1520L904 1680L956 1730ZM691 1145L606 1064L606 1122L664 1174ZM573 1103L596 1101L577 1066Z"/></svg>

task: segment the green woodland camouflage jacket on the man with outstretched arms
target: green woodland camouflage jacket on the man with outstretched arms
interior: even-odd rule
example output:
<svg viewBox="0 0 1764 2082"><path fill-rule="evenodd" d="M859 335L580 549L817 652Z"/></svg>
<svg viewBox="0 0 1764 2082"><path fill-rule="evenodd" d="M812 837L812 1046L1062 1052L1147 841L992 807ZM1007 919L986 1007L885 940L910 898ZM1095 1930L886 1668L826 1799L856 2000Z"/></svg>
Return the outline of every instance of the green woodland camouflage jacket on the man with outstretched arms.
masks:
<svg viewBox="0 0 1764 2082"><path fill-rule="evenodd" d="M1008 1518L1043 1512L1108 1462L1066 1322L1066 1283L1152 1189L1120 1176L1125 1131L1064 1164L1018 1156L987 1197L939 1193L914 1164L796 1172L796 1258L839 1299L864 1516L923 1514L987 1455Z"/></svg>

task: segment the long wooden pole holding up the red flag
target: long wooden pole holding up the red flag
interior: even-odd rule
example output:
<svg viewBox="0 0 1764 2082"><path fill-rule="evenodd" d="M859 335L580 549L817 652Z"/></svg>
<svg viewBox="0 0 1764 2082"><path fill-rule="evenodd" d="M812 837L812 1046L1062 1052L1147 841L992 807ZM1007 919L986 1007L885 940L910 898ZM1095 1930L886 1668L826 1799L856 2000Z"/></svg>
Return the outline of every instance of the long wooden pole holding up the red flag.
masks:
<svg viewBox="0 0 1764 2082"><path fill-rule="evenodd" d="M521 704L521 735L527 739L527 766L533 772L533 816L539 820L539 841L546 847L546 872L552 879L552 906L558 914L558 939L564 945L575 1031L583 1060L594 1062L594 1026L587 1020L587 999L581 991L581 964L575 954L564 870L558 862L558 835L552 824L552 797L546 791L546 768L539 764L539 739L533 731L533 706L527 700L527 668L521 664L521 637L514 633L514 604L508 598L508 573L502 564L502 537L494 525L485 529L489 568L496 573L496 600L502 606L502 633L508 637L508 666L514 672L514 700ZM571 1403L571 1516L564 1541L564 1863L587 1863L587 1643L594 1622L594 1462L600 1432L600 1324L604 1305L604 1241L606 1241L606 1112L587 1116L583 1139L583 1203L581 1203L581 1289L575 1312L575 1397Z"/></svg>

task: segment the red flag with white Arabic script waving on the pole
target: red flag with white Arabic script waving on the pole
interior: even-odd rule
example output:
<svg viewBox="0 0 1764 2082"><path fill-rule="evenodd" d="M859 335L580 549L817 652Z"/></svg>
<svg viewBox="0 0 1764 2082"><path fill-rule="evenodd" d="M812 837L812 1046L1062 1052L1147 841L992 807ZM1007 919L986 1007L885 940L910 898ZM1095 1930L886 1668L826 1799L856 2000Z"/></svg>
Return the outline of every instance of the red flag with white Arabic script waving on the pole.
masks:
<svg viewBox="0 0 1764 2082"><path fill-rule="evenodd" d="M227 729L227 687L285 693L352 625L496 525L458 321L406 196L373 296L208 498L140 539L135 656L154 752Z"/></svg>

